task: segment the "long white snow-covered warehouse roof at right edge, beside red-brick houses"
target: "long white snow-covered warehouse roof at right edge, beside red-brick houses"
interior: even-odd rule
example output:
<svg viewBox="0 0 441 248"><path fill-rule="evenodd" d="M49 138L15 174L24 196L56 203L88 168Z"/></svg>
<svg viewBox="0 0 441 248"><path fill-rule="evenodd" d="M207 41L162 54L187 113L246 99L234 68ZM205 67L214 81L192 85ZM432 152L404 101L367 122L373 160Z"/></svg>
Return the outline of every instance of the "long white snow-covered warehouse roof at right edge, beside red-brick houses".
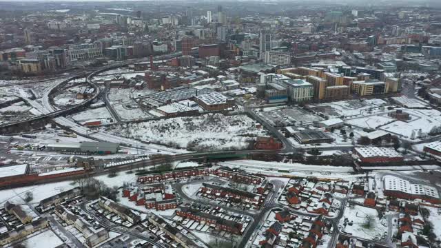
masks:
<svg viewBox="0 0 441 248"><path fill-rule="evenodd" d="M438 190L429 185L420 185L409 182L396 176L384 176L384 190L404 192L415 196L430 196L433 198L440 198Z"/></svg>

